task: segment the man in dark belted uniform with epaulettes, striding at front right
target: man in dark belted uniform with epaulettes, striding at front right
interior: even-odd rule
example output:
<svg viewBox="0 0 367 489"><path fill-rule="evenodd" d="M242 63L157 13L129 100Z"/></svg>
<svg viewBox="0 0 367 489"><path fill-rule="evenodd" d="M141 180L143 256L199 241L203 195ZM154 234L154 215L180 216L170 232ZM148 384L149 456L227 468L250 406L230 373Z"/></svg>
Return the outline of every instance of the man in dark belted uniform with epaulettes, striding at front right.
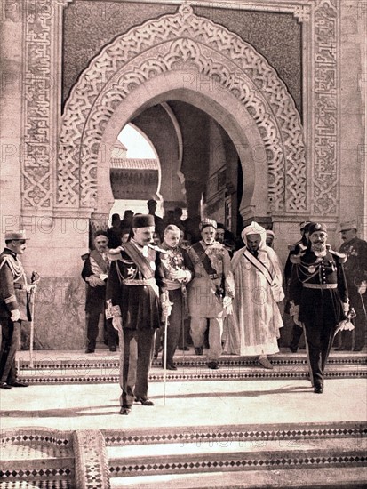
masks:
<svg viewBox="0 0 367 489"><path fill-rule="evenodd" d="M326 244L324 224L313 222L308 231L307 249L292 256L290 314L296 324L305 325L314 391L322 394L334 334L349 312L343 269L347 257Z"/></svg>

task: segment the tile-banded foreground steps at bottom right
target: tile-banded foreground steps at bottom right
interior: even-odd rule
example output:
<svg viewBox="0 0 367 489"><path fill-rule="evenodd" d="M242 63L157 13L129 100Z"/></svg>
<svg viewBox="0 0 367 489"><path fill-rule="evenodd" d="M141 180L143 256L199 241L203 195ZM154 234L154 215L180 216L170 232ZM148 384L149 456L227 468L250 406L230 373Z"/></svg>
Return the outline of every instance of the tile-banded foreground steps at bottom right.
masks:
<svg viewBox="0 0 367 489"><path fill-rule="evenodd" d="M103 431L111 487L362 488L367 426L355 423Z"/></svg>

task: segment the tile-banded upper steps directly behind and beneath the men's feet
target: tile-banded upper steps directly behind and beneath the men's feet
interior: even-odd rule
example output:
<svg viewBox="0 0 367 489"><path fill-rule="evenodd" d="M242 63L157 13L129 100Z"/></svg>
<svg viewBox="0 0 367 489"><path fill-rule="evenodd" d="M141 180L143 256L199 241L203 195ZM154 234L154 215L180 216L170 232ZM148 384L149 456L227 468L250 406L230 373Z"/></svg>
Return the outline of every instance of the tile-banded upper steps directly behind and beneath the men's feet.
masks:
<svg viewBox="0 0 367 489"><path fill-rule="evenodd" d="M305 353L279 353L271 358L273 370L261 367L255 358L223 355L219 370L208 368L204 357L181 354L175 357L177 371L167 371L167 381L235 381L235 380L305 380L308 378ZM33 368L27 357L19 359L20 378L31 384L116 383L118 382L118 354L100 352L97 355L74 354L73 358L57 355L38 356ZM367 356L363 353L333 352L326 367L326 377L367 377ZM150 381L163 381L161 360L153 361Z"/></svg>

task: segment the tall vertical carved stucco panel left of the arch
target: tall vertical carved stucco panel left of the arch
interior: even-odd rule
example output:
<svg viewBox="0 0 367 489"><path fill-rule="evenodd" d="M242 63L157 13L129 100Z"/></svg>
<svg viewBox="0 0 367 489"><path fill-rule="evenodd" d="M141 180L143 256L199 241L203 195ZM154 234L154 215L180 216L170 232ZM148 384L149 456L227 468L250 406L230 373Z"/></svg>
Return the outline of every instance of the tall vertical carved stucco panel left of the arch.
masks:
<svg viewBox="0 0 367 489"><path fill-rule="evenodd" d="M50 0L40 0L37 4L28 1L25 5L25 19L23 207L50 208L52 206Z"/></svg>

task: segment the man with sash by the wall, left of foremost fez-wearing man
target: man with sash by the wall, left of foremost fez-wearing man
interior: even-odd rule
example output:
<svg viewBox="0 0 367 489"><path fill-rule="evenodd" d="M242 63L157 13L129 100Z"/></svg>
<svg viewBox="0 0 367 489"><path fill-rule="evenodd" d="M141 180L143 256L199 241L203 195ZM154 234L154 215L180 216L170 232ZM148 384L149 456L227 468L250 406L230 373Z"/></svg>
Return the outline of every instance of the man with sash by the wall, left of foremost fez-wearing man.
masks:
<svg viewBox="0 0 367 489"><path fill-rule="evenodd" d="M82 277L87 284L85 297L85 319L87 346L85 353L94 353L98 337L100 315L105 319L106 281L108 277L108 233L97 231L93 238L94 250L82 256ZM116 330L111 322L105 325L108 348L116 351ZM105 332L104 332L105 333Z"/></svg>

